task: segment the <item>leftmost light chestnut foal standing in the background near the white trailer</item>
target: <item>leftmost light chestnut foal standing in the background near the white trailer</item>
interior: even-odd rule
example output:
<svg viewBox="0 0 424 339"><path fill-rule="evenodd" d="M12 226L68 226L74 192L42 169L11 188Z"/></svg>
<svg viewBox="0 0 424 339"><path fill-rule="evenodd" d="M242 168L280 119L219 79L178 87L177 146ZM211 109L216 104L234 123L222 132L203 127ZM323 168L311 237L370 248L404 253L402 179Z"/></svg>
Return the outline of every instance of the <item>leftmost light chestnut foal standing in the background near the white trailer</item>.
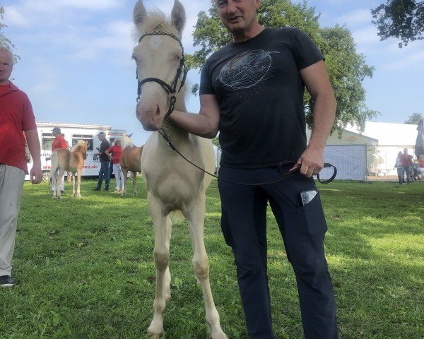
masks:
<svg viewBox="0 0 424 339"><path fill-rule="evenodd" d="M53 198L61 199L60 181L65 171L72 172L73 191L72 196L81 198L81 173L83 172L84 159L87 158L88 141L78 141L72 150L58 148L52 153L52 168L50 169L50 177L56 180L56 191L53 191ZM75 173L78 176L78 182L75 190Z"/></svg>

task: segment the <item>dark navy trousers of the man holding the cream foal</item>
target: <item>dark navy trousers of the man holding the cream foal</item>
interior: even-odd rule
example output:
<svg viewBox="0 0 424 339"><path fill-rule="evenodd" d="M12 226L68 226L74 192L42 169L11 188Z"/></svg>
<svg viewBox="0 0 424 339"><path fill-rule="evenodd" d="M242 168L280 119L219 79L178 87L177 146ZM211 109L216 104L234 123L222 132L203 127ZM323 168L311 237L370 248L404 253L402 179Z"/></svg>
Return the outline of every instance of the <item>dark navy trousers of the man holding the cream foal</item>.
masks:
<svg viewBox="0 0 424 339"><path fill-rule="evenodd" d="M276 167L220 167L220 179L269 182L281 178ZM221 227L232 248L250 339L275 339L266 260L266 206L270 203L293 266L306 339L336 339L336 302L324 257L326 222L319 194L302 206L301 191L316 189L313 179L295 174L278 184L242 186L218 180Z"/></svg>

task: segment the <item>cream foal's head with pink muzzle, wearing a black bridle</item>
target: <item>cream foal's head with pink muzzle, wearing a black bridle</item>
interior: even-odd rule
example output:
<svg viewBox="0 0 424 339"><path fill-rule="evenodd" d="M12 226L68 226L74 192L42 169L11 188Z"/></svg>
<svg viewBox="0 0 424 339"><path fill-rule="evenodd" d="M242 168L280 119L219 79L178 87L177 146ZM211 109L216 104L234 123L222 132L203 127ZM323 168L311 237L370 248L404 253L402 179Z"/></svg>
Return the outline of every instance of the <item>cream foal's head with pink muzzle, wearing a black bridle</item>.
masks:
<svg viewBox="0 0 424 339"><path fill-rule="evenodd" d="M181 45L184 7L175 0L171 19L166 20L162 12L147 13L143 1L139 0L134 7L134 23L139 44L134 48L132 57L136 61L141 83L136 116L144 129L156 131L170 111L172 95L177 95L184 77ZM172 89L175 94L172 94Z"/></svg>

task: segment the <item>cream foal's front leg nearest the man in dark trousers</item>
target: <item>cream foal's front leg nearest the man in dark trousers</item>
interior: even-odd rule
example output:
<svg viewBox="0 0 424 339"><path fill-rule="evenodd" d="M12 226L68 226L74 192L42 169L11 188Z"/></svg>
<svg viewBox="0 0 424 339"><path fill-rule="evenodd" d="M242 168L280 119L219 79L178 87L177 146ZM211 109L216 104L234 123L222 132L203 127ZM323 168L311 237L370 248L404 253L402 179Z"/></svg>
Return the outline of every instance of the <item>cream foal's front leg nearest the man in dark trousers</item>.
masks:
<svg viewBox="0 0 424 339"><path fill-rule="evenodd" d="M206 254L204 243L204 218L205 200L199 197L189 213L184 213L189 222L190 235L192 237L194 256L193 268L201 285L204 295L206 321L211 327L211 339L228 339L220 327L220 319L215 303L213 302L211 284L209 282L209 258Z"/></svg>

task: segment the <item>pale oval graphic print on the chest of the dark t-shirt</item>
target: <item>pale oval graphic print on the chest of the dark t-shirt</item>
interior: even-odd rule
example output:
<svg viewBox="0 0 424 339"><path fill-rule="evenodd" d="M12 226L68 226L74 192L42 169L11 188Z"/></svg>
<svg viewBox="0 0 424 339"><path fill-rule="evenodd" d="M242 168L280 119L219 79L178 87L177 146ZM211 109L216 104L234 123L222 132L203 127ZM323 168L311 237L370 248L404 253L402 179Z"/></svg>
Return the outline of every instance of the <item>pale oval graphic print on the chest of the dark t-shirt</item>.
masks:
<svg viewBox="0 0 424 339"><path fill-rule="evenodd" d="M223 66L217 80L228 90L251 88L271 77L271 53L263 49L251 49L238 54Z"/></svg>

